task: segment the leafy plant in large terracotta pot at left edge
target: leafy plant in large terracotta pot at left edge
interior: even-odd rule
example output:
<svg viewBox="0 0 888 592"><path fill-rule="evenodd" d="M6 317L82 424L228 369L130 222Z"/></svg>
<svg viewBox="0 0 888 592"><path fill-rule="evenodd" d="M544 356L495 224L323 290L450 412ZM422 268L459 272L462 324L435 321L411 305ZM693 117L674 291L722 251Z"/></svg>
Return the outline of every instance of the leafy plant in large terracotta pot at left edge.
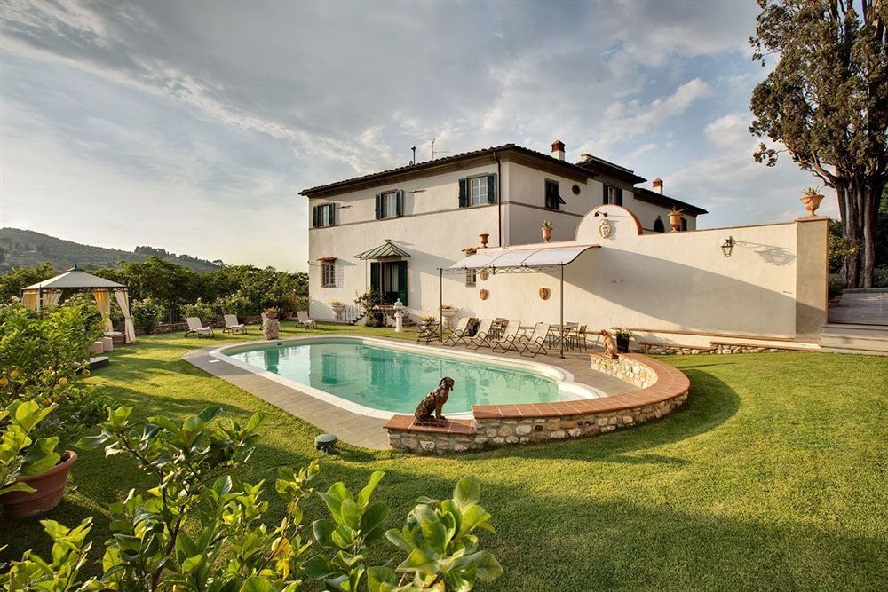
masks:
<svg viewBox="0 0 888 592"><path fill-rule="evenodd" d="M65 493L77 453L55 451L59 438L32 439L29 433L51 414L54 404L16 401L0 410L0 505L7 517L23 518L55 508Z"/></svg>

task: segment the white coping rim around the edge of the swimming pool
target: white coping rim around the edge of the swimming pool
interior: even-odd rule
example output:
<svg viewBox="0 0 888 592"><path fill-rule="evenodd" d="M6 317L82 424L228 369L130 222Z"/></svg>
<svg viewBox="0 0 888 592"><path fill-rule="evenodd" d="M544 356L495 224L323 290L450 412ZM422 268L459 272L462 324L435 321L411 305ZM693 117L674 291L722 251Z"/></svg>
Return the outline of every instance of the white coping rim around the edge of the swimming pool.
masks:
<svg viewBox="0 0 888 592"><path fill-rule="evenodd" d="M208 351L208 355L210 358L217 359L220 362L224 362L226 364L230 364L231 366L240 368L245 372L250 372L253 375L261 376L266 380L270 380L274 383L281 384L282 386L289 387L295 391L303 392L315 399L319 399L329 405L334 407L338 407L343 409L344 411L348 411L349 413L364 415L366 417L371 417L374 419L384 419L384 420L392 420L392 418L402 415L400 412L395 411L385 411L381 409L374 409L373 407L366 407L361 405L360 403L354 403L353 401L349 401L347 399L342 399L333 395L327 391L321 391L321 389L317 389L309 384L299 383L298 381L285 378L284 376L277 375L274 372L270 372L268 370L263 370L260 367L252 366L246 362L242 362L239 359L234 359L226 352L231 352L233 350L238 350L242 348L250 348L250 349L263 349L261 346L274 345L280 347L281 345L285 345L288 343L312 343L312 342L326 342L329 343L331 341L345 341L345 342L359 342L359 343L369 343L369 344L377 344L382 347L388 347L390 349L396 349L401 351L414 352L416 350L422 352L437 352L448 356L449 358L456 359L474 359L474 360L484 360L491 362L495 366L499 367L511 367L515 369L519 369L522 372L529 372L530 374L539 374L544 377L551 378L554 380L556 385L559 388L559 391L567 391L572 395L576 395L574 399L568 399L566 401L559 401L558 403L570 403L571 401L583 401L587 399L603 399L607 398L610 395L605 391L601 391L600 389L593 387L589 384L576 383L574 380L574 375L568 372L564 368L560 368L557 366L552 366L551 364L543 364L538 361L527 360L527 359L511 359L507 357L499 357L495 355L488 355L486 353L478 353L475 351L465 351L465 350L456 350L451 348L439 347L439 346L431 346L431 345L422 345L419 346L416 343L404 342L401 340L392 340L392 339L384 339L380 337L369 337L364 335L304 335L299 337L289 337L287 339L274 339L274 340L253 340L246 342L238 342L238 343L226 343L221 347L217 347ZM533 372L532 370L528 371L528 367L535 368L538 372ZM534 405L532 403L525 403L519 405ZM474 407L478 406L473 406ZM461 413L449 413L448 418L459 419L459 420L472 420L475 418L473 410L465 411Z"/></svg>

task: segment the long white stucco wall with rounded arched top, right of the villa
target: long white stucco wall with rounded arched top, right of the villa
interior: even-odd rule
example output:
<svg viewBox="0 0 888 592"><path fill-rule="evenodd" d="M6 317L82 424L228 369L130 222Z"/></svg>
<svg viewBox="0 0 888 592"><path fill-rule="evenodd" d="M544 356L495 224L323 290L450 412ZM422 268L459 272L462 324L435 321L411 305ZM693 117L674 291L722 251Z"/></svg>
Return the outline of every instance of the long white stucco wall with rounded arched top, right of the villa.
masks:
<svg viewBox="0 0 888 592"><path fill-rule="evenodd" d="M599 244L565 268L565 320L591 328L630 327L704 333L795 337L797 277L824 298L825 251L821 243L799 252L797 225L745 226L686 233L638 235L625 209L602 206L613 227L599 236L603 217L583 219L577 243ZM825 223L823 223L825 224ZM733 236L732 257L721 244ZM805 244L805 243L803 243ZM797 273L797 265L805 273ZM559 321L557 272L498 273L477 288L445 283L444 299L461 316L507 317L527 325ZM479 296L488 289L488 300ZM550 288L543 301L539 288ZM809 316L822 311L814 304Z"/></svg>

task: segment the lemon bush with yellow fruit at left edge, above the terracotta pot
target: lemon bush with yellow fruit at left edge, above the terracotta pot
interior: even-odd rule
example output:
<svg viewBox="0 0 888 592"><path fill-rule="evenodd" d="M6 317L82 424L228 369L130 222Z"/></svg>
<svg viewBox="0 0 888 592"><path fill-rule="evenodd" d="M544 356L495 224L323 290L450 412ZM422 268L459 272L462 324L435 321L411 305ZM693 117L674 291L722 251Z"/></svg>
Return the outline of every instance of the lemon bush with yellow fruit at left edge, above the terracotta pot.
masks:
<svg viewBox="0 0 888 592"><path fill-rule="evenodd" d="M0 305L0 406L17 400L56 405L41 431L72 431L100 422L106 399L83 383L88 348L101 335L95 306L54 306L41 313Z"/></svg>

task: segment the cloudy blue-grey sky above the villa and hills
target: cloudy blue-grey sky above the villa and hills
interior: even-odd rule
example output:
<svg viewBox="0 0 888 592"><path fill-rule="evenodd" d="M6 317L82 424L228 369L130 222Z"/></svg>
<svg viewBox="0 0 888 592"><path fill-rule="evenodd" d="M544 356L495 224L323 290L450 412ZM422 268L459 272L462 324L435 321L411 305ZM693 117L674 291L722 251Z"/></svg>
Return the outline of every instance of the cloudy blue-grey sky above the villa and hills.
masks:
<svg viewBox="0 0 888 592"><path fill-rule="evenodd" d="M505 143L804 214L752 153L753 0L0 0L0 226L307 269L306 187ZM649 182L647 184L649 185ZM821 213L836 214L828 193Z"/></svg>

